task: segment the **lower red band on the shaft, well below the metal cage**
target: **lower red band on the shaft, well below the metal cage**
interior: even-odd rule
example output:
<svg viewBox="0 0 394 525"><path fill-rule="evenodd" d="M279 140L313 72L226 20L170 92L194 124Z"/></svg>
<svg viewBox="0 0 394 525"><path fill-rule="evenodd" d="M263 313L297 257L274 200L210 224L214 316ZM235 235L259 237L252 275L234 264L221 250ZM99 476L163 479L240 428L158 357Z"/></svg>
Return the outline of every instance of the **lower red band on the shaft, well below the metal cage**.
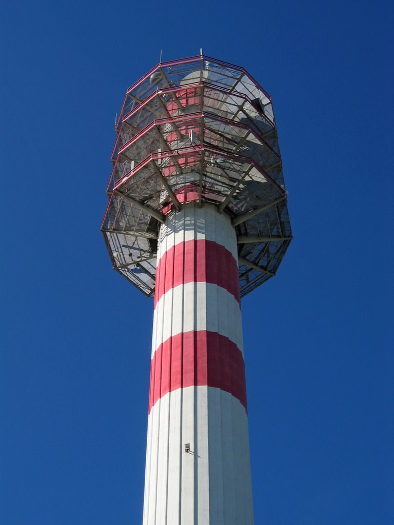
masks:
<svg viewBox="0 0 394 525"><path fill-rule="evenodd" d="M241 350L224 335L205 330L170 337L151 361L149 413L165 394L186 386L220 388L236 397L247 410Z"/></svg>

